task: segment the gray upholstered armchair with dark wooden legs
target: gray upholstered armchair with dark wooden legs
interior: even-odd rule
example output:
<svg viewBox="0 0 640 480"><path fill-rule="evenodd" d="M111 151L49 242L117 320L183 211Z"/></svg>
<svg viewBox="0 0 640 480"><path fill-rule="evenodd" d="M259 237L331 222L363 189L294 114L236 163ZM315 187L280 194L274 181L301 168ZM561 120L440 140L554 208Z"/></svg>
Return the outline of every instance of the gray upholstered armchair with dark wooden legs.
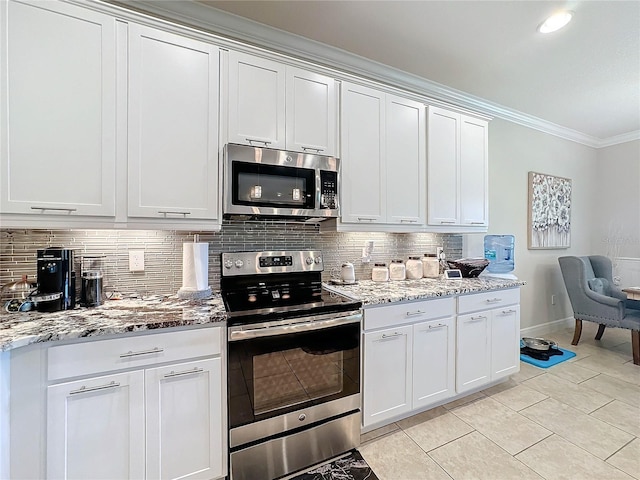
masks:
<svg viewBox="0 0 640 480"><path fill-rule="evenodd" d="M613 283L611 260L601 255L560 257L560 270L567 287L576 320L572 345L582 333L582 321L596 322L596 340L606 327L631 330L633 363L640 365L640 302L627 300L627 295Z"/></svg>

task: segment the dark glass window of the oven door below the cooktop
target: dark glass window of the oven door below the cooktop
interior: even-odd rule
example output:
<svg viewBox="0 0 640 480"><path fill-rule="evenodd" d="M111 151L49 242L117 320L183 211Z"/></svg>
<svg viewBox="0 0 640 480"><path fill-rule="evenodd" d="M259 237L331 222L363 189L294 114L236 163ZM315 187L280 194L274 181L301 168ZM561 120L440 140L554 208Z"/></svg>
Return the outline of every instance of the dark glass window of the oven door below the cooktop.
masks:
<svg viewBox="0 0 640 480"><path fill-rule="evenodd" d="M229 343L237 427L359 393L359 323Z"/></svg>

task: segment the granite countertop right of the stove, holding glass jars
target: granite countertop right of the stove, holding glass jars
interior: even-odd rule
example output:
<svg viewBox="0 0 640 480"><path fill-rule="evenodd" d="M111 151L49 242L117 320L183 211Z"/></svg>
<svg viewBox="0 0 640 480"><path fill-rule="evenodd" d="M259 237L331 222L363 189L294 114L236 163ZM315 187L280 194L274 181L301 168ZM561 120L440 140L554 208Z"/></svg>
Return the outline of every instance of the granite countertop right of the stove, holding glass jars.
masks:
<svg viewBox="0 0 640 480"><path fill-rule="evenodd" d="M521 280L500 278L463 278L461 280L442 280L421 278L420 280L398 280L374 282L359 280L353 285L325 285L343 295L358 299L367 307L384 303L421 300L435 297L448 297L466 293L480 293L525 285Z"/></svg>

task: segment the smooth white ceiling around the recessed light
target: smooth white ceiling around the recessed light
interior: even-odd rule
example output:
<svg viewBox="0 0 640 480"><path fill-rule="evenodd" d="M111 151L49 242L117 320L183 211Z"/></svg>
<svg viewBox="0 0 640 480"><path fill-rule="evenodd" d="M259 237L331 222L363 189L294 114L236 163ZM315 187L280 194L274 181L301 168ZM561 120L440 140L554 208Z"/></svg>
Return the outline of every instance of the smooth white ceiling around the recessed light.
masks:
<svg viewBox="0 0 640 480"><path fill-rule="evenodd" d="M637 0L200 3L599 141L640 132ZM537 33L559 8L573 10L573 21L559 32Z"/></svg>

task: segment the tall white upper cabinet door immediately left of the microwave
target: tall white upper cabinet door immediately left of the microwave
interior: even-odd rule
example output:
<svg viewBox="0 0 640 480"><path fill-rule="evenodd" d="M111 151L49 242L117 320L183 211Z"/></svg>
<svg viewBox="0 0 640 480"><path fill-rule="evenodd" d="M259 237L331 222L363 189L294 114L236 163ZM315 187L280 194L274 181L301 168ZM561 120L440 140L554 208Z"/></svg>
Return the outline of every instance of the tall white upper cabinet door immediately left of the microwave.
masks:
<svg viewBox="0 0 640 480"><path fill-rule="evenodd" d="M129 26L129 216L218 216L218 48Z"/></svg>

